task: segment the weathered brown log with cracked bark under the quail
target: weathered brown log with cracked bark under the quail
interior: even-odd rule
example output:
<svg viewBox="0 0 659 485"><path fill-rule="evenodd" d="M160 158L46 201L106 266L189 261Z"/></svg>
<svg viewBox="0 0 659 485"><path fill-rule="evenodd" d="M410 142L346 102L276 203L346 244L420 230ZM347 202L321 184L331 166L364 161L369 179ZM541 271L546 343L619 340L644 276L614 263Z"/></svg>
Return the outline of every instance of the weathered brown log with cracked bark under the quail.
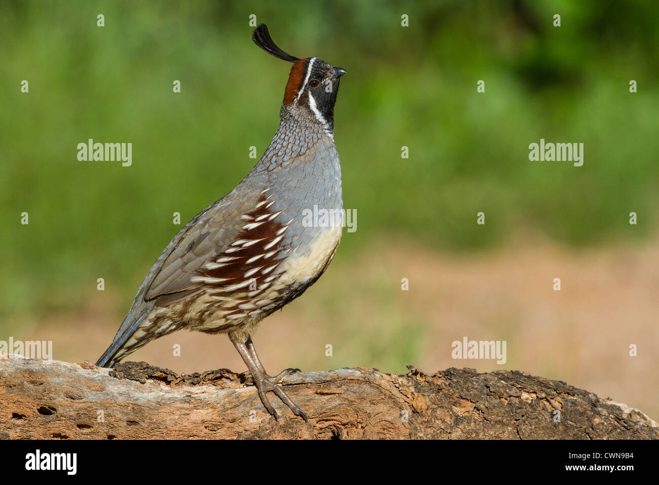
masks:
<svg viewBox="0 0 659 485"><path fill-rule="evenodd" d="M658 439L643 412L563 381L449 368L405 375L345 368L290 375L305 423L244 373L191 375L146 362L0 360L4 439Z"/></svg>

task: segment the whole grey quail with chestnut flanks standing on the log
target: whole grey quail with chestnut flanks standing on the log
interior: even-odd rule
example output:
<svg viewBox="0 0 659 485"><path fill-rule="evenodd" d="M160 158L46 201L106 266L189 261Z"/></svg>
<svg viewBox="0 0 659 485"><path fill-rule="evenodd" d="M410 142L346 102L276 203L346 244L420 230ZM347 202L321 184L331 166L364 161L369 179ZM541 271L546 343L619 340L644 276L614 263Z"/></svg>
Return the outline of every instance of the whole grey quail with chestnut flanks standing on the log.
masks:
<svg viewBox="0 0 659 485"><path fill-rule="evenodd" d="M327 269L343 220L341 166L334 143L334 106L346 73L319 57L295 57L273 42L266 24L254 43L293 63L279 127L251 172L199 212L167 244L135 296L110 346L96 362L111 368L148 342L177 330L226 333L247 366L258 396L275 420L266 393L308 421L279 383L299 369L271 376L252 335L268 315L301 296Z"/></svg>

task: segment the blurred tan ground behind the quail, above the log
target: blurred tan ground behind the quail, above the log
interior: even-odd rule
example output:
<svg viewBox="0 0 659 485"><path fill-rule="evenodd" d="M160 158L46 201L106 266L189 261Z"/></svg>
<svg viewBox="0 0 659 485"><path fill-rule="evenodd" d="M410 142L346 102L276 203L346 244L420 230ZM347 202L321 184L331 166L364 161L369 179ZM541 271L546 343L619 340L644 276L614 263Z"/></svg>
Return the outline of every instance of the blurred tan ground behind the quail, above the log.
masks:
<svg viewBox="0 0 659 485"><path fill-rule="evenodd" d="M406 372L448 367L523 370L567 381L659 418L659 238L633 245L567 249L526 238L497 251L432 253L391 241L344 260L254 338L266 369L344 366ZM392 249L393 248L393 249ZM144 268L144 273L147 271ZM552 289L561 278L561 291ZM409 279L409 291L401 290ZM136 281L137 288L139 281ZM79 313L26 321L14 340L53 340L53 358L95 362L130 302L94 291ZM507 362L453 360L451 342L507 340ZM173 345L181 356L173 356ZM333 356L326 356L326 344ZM636 344L638 356L629 356ZM179 332L130 360L176 372L244 364L225 335Z"/></svg>

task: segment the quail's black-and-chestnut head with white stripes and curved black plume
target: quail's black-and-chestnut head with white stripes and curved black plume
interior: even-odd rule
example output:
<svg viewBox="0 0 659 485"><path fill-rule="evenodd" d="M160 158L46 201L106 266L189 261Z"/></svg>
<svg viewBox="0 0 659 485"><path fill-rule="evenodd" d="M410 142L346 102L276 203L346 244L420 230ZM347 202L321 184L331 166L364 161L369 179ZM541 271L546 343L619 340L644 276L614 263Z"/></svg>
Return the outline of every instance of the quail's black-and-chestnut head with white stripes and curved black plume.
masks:
<svg viewBox="0 0 659 485"><path fill-rule="evenodd" d="M333 131L334 104L345 69L332 67L318 57L295 57L284 52L273 42L266 24L254 29L252 39L264 51L293 63L284 92L283 109L295 112L299 108L304 115Z"/></svg>

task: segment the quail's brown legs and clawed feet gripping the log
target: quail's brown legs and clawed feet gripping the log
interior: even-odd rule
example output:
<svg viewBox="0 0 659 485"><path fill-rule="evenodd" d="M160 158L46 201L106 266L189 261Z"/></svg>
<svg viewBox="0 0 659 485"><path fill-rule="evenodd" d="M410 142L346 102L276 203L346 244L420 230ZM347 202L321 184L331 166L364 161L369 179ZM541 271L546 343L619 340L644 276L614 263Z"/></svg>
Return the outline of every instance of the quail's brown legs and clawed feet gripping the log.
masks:
<svg viewBox="0 0 659 485"><path fill-rule="evenodd" d="M252 374L252 380L254 381L256 390L258 391L258 397L260 397L261 402L268 410L268 412L273 416L273 418L277 420L279 419L279 416L277 415L275 408L272 407L272 404L270 404L270 401L268 401L268 398L266 397L266 393L268 391L275 393L275 395L277 395L277 397L279 397L279 399L281 399L284 404L291 408L291 411L293 411L295 416L300 416L305 422L308 421L304 411L301 410L295 403L293 403L293 401L291 401L291 398L286 395L284 390L281 389L281 386L279 385L279 381L281 381L281 379L283 379L285 376L294 372L300 372L300 370L286 369L280 372L278 375L270 376L268 373L266 373L266 370L263 368L263 364L261 364L258 355L256 355L256 350L254 349L254 344L252 343L251 338L248 338L244 343L233 342L233 345L235 346L236 350L238 350L238 353L241 354L243 362L249 369L249 372Z"/></svg>

